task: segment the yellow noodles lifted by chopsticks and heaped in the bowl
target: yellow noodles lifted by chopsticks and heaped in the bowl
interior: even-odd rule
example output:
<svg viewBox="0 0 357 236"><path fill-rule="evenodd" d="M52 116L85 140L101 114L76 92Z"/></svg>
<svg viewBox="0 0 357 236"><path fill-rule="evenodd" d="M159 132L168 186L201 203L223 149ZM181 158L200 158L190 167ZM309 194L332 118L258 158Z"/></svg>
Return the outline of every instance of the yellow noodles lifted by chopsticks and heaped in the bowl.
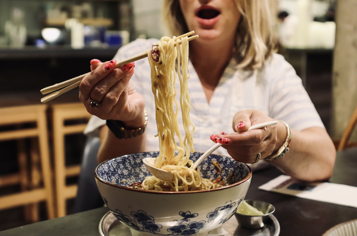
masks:
<svg viewBox="0 0 357 236"><path fill-rule="evenodd" d="M176 40L176 42L175 42ZM181 45L179 45L181 42ZM175 48L176 43L176 48ZM158 50L158 51L157 51ZM201 172L192 169L190 150L193 148L195 125L190 119L190 95L188 93L188 40L162 37L153 51L148 52L151 67L152 92L155 97L157 135L160 153L155 160L155 167L174 174L174 181L164 181L155 176L148 176L142 182L147 190L191 191L217 188L219 184L201 177ZM159 53L157 53L159 52ZM180 81L180 107L185 136L182 138L178 125L178 102L176 101L176 59L177 75ZM182 63L180 61L182 60ZM181 72L180 72L181 70ZM181 74L182 73L182 74ZM190 129L191 128L191 129ZM177 145L175 137L178 138ZM175 152L177 150L177 155ZM190 166L190 167L189 167Z"/></svg>

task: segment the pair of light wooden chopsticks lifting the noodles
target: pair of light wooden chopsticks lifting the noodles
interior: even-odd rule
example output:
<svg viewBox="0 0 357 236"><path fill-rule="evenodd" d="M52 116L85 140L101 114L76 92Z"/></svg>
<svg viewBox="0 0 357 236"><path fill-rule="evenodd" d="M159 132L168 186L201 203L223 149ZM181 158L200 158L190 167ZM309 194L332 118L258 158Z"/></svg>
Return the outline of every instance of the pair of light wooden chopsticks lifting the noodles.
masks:
<svg viewBox="0 0 357 236"><path fill-rule="evenodd" d="M191 31L191 32L188 32L186 34L177 36L176 39L181 39L183 37L192 35L193 33L195 33L195 31ZM198 35L194 35L194 36L188 37L188 41L191 41L191 40L197 39L197 38L198 38ZM175 44L175 46L176 46L176 44ZM130 63L130 62L133 62L133 61L137 61L137 60L140 60L142 58L147 57L147 51L151 51L151 48L149 48L148 50L145 50L144 52L141 52L141 53L139 53L139 54L137 54L135 56L127 58L127 59L125 59L123 61L117 62L114 68L117 68L117 67L120 67L120 66L124 66L127 63ZM48 101L60 96L61 94L65 93L67 91L70 91L73 88L78 87L79 84L81 83L82 79L89 73L90 72L85 73L85 74L80 75L80 76L77 76L77 77L74 77L72 79L68 79L68 80L63 81L61 83L56 83L56 84L51 85L49 87L42 88L40 90L42 94L47 94L47 93L50 93L50 92L53 92L53 93L41 98L41 102L43 102L43 103L48 102ZM58 89L60 89L60 90L58 90ZM56 90L58 90L58 91L56 91Z"/></svg>

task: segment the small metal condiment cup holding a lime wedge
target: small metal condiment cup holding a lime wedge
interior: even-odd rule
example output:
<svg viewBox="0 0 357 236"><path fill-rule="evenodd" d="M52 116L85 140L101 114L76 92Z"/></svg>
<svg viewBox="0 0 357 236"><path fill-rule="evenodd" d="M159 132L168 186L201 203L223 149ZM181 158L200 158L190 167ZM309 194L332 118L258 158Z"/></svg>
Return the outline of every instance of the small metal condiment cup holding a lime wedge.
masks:
<svg viewBox="0 0 357 236"><path fill-rule="evenodd" d="M260 229L264 227L264 221L269 215L273 214L275 207L268 202L258 200L245 200L247 204L255 207L258 211L264 213L260 216L243 215L235 213L235 217L238 221L238 225L247 229Z"/></svg>

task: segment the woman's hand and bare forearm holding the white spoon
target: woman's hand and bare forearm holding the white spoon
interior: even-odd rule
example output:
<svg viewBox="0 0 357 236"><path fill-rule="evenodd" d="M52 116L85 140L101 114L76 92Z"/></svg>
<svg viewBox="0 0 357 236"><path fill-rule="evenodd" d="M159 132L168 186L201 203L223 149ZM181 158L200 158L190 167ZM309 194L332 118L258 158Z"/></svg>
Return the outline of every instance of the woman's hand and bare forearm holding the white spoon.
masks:
<svg viewBox="0 0 357 236"><path fill-rule="evenodd" d="M249 109L237 112L233 118L233 129L238 133L211 136L237 161L254 163L258 153L261 159L275 154L287 139L287 127L279 121L277 125L249 130L257 123L273 120L265 113ZM285 174L302 181L327 180L332 175L336 149L324 128L311 127L302 131L290 129L292 139L289 151L283 157L267 160ZM215 137L214 139L212 137Z"/></svg>

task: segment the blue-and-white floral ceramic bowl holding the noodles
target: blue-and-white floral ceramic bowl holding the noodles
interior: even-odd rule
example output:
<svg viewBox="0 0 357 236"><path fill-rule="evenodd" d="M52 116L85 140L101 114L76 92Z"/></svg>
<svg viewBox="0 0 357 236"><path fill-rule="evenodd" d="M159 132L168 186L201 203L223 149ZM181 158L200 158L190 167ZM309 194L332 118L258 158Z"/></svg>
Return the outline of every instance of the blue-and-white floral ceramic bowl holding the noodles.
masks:
<svg viewBox="0 0 357 236"><path fill-rule="evenodd" d="M104 161L95 171L104 202L137 235L207 235L234 215L248 191L252 176L249 166L215 154L199 168L203 177L216 179L220 174L212 161L218 161L223 179L231 179L231 184L222 188L160 192L127 187L151 175L142 159L158 155L147 152L117 157ZM193 153L190 159L195 161L201 155Z"/></svg>

